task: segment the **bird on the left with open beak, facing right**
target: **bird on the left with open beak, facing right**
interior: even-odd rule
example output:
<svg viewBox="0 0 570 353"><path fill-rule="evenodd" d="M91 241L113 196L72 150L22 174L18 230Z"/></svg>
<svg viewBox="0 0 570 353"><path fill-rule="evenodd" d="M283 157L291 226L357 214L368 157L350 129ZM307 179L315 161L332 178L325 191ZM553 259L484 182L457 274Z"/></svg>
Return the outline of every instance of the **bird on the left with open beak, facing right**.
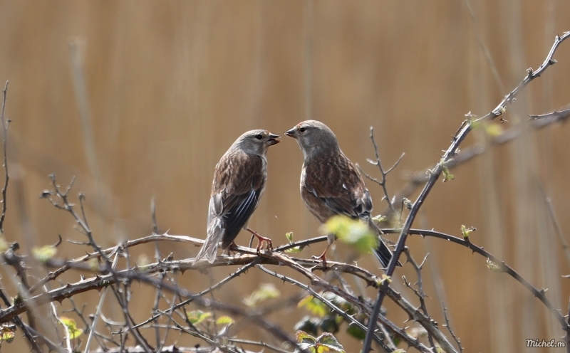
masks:
<svg viewBox="0 0 570 353"><path fill-rule="evenodd" d="M242 229L258 238L258 252L264 242L272 248L271 239L252 231L247 222L265 191L267 150L278 144L279 138L267 130L245 132L216 164L209 199L207 236L194 262L206 258L213 263L217 248L229 249Z"/></svg>

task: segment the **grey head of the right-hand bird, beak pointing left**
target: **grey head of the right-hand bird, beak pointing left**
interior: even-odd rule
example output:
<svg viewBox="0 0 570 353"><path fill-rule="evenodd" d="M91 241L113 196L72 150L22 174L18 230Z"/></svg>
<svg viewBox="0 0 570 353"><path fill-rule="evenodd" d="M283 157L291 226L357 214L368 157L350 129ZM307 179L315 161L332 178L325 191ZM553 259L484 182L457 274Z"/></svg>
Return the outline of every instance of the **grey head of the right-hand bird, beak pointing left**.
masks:
<svg viewBox="0 0 570 353"><path fill-rule="evenodd" d="M305 160L321 151L338 151L338 142L333 131L316 120L299 122L294 128L285 132L285 135L297 140Z"/></svg>

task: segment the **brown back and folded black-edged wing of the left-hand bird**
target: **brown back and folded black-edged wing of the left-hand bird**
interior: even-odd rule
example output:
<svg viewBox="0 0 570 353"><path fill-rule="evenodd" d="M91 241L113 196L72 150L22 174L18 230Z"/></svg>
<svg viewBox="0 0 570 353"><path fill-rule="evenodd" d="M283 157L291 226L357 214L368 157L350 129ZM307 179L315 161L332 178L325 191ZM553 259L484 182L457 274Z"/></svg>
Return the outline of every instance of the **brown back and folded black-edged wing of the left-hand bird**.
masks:
<svg viewBox="0 0 570 353"><path fill-rule="evenodd" d="M209 223L222 218L222 248L234 241L255 211L265 186L264 162L259 156L232 154L218 163L212 184Z"/></svg>

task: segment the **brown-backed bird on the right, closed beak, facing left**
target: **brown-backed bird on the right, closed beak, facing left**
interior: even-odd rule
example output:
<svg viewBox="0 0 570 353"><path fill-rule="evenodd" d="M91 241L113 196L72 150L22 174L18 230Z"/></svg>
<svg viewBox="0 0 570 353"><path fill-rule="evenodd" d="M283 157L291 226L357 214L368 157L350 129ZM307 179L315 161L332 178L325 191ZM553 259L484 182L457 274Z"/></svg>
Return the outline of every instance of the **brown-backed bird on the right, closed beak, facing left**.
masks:
<svg viewBox="0 0 570 353"><path fill-rule="evenodd" d="M300 187L301 199L307 209L321 223L339 214L368 223L380 238L374 254L383 268L387 268L392 251L382 241L380 230L372 221L372 198L358 169L338 146L333 131L322 122L306 120L285 135L296 139L303 152ZM325 266L326 251L334 240L335 236L329 234L328 245L318 257Z"/></svg>

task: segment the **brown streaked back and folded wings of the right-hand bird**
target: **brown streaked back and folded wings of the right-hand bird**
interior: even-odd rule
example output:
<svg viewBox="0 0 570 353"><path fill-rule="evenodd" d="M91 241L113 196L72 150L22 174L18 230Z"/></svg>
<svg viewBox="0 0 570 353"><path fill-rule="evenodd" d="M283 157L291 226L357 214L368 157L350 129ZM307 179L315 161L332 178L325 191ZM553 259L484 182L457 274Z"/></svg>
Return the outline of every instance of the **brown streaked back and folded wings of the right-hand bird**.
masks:
<svg viewBox="0 0 570 353"><path fill-rule="evenodd" d="M372 211L372 199L361 174L341 152L304 166L304 188L321 199L337 214L366 218Z"/></svg>

